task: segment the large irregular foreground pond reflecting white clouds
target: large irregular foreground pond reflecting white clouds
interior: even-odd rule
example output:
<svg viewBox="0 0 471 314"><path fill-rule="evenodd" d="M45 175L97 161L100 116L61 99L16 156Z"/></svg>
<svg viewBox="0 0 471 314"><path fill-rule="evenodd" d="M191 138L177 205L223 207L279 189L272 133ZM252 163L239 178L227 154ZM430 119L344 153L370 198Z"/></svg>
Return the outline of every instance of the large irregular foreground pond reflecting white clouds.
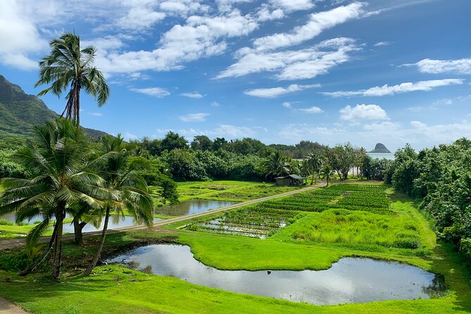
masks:
<svg viewBox="0 0 471 314"><path fill-rule="evenodd" d="M217 270L195 260L189 246L151 245L107 260L241 294L318 305L394 299L429 299L444 289L441 277L420 268L369 258L341 258L328 270Z"/></svg>

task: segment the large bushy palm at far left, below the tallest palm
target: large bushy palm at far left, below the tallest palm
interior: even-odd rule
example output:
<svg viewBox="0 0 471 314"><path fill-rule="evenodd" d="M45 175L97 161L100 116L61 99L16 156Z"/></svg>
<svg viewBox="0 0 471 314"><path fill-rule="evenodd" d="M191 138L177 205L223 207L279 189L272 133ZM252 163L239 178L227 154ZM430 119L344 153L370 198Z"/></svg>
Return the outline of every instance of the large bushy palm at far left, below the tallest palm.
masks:
<svg viewBox="0 0 471 314"><path fill-rule="evenodd" d="M33 135L32 141L13 155L16 162L30 171L31 177L1 179L6 191L0 197L0 215L15 212L19 221L42 215L42 222L27 234L28 246L34 246L55 218L46 256L54 251L52 276L58 278L67 208L77 202L99 208L100 200L116 197L103 188L104 180L99 175L83 170L87 160L87 137L72 121L63 118L48 121L34 127Z"/></svg>

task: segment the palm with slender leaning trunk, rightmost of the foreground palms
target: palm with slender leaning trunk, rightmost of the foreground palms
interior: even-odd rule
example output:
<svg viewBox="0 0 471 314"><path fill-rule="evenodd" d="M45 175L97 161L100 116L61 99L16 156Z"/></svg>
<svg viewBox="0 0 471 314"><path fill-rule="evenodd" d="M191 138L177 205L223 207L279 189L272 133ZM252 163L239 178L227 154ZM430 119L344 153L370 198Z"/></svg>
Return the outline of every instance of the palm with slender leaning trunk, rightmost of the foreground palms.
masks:
<svg viewBox="0 0 471 314"><path fill-rule="evenodd" d="M99 174L106 180L106 186L118 192L117 200L106 201L103 207L105 222L101 232L101 241L95 253L92 263L84 271L84 275L90 275L98 262L103 244L105 243L106 232L108 230L108 220L111 211L123 214L127 209L134 218L144 221L148 226L153 222L153 201L147 193L147 184L139 175L142 166L130 163L128 155L123 147L123 138L105 135L101 139L103 153L108 156L106 162L99 167Z"/></svg>

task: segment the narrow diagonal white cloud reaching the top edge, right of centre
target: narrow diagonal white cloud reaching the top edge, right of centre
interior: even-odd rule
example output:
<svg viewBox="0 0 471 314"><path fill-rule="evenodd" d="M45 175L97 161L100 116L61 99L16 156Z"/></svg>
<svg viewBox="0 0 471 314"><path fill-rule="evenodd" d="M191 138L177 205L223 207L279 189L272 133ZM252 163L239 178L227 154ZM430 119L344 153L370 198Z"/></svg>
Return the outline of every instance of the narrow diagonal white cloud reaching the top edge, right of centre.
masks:
<svg viewBox="0 0 471 314"><path fill-rule="evenodd" d="M282 2L287 3L288 1ZM256 50L272 50L301 44L302 42L306 42L306 40L313 39L322 31L334 27L335 25L345 23L353 18L359 18L361 13L363 13L363 6L364 4L361 2L354 2L353 4L339 6L329 11L313 13L310 15L310 19L305 25L295 27L294 30L288 33L272 34L255 39L253 46Z"/></svg>

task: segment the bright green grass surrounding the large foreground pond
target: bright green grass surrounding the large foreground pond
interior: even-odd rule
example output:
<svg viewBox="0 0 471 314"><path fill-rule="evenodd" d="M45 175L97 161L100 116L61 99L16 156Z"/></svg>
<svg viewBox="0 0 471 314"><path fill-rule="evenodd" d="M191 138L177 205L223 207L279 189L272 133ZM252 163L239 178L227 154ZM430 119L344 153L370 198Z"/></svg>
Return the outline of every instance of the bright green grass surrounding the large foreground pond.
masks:
<svg viewBox="0 0 471 314"><path fill-rule="evenodd" d="M12 272L0 272L0 294L20 303L33 313L470 313L469 277L459 257L448 246L436 243L427 220L414 208L411 201L398 194L391 194L391 199L394 203L389 215L370 211L345 211L346 217L359 215L361 219L358 221L373 216L378 220L396 218L398 222L387 223L390 224L389 228L394 226L399 231L408 230L406 226L413 224L420 238L420 245L425 249L398 249L365 244L362 241L356 243L355 237L346 237L343 243L308 243L291 237L289 228L309 230L308 227L312 226L315 219L338 211L337 209L329 209L323 213L307 213L291 226L264 240L175 230L175 227L183 222L170 225L168 232L176 241L191 246L196 259L219 269L320 270L329 268L343 256L398 260L443 274L449 289L446 296L429 300L311 306L198 287L182 280L146 275L118 265L102 266L88 278L73 275L77 273L76 268L80 271L83 267L80 264L84 263L82 252L86 251L85 256L88 258L94 251L91 244L96 244L98 238L87 239L90 245L82 249L71 244L65 246L64 255L68 257L65 260L65 268L69 270L68 275L72 276L66 276L60 284L42 277L19 278ZM363 227L374 230L373 222L374 220L371 220L371 224ZM335 224L327 220L326 225ZM161 232L110 234L107 237L105 252L113 253L134 241L145 243L166 235ZM421 253L418 254L417 251ZM6 277L9 279L2 280Z"/></svg>

